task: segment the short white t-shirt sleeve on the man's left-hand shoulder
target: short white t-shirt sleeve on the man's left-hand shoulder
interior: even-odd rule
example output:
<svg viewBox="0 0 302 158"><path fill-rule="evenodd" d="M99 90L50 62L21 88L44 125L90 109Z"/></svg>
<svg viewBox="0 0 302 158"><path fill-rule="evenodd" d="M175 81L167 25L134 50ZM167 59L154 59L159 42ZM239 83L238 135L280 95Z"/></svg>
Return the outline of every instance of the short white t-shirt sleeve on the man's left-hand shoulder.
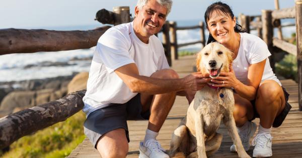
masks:
<svg viewBox="0 0 302 158"><path fill-rule="evenodd" d="M134 63L129 55L130 46L127 43L129 40L117 29L108 30L99 39L96 51L109 73L121 66Z"/></svg>

